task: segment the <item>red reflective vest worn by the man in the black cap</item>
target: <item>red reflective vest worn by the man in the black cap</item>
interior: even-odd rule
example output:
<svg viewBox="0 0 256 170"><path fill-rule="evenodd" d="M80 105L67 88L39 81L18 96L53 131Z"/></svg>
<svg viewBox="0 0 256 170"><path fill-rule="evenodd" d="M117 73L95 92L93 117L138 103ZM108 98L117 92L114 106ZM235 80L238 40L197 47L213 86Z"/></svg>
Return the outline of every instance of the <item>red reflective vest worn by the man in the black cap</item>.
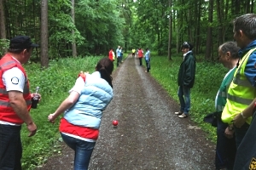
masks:
<svg viewBox="0 0 256 170"><path fill-rule="evenodd" d="M9 95L6 87L3 85L3 72L13 67L18 67L25 75L25 85L23 89L23 97L26 100L27 110L31 108L31 95L29 92L29 82L26 77L26 71L18 61L12 58L10 54L5 54L0 60L0 121L22 124L23 120L15 113L9 103Z"/></svg>

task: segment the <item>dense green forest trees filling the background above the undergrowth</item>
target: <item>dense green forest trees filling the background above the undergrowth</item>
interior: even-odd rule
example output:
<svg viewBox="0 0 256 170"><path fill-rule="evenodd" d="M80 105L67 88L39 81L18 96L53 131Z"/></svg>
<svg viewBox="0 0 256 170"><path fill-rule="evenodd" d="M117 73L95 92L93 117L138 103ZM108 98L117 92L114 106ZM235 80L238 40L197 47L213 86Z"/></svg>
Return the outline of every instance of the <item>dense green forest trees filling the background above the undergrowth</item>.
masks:
<svg viewBox="0 0 256 170"><path fill-rule="evenodd" d="M32 60L107 55L109 48L149 48L172 59L183 41L213 60L233 40L232 20L255 0L0 0L0 53L17 35L40 44Z"/></svg>

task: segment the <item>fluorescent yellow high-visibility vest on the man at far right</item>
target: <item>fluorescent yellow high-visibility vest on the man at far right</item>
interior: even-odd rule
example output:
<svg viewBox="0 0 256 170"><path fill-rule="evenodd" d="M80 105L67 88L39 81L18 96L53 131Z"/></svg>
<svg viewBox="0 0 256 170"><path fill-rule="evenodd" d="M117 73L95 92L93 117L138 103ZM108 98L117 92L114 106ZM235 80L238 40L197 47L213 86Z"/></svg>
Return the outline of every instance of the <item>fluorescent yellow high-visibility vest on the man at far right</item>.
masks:
<svg viewBox="0 0 256 170"><path fill-rule="evenodd" d="M245 76L245 68L249 56L256 48L250 49L247 54L241 59L241 65L236 69L233 81L227 94L227 103L222 114L222 121L231 123L234 117L241 111L247 108L256 98L256 90ZM250 124L252 117L247 118L247 123Z"/></svg>

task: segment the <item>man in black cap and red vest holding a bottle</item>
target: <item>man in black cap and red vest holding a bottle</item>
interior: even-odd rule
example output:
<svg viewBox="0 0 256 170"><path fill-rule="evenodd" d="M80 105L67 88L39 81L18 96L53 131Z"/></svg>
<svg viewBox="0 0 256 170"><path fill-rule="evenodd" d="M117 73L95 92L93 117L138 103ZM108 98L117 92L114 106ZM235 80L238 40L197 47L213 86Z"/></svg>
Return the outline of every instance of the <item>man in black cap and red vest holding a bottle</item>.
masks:
<svg viewBox="0 0 256 170"><path fill-rule="evenodd" d="M34 47L38 44L33 44L30 37L14 37L8 53L0 60L0 169L21 169L21 124L26 123L28 137L37 132L29 114L33 94L29 92L28 78L22 67Z"/></svg>

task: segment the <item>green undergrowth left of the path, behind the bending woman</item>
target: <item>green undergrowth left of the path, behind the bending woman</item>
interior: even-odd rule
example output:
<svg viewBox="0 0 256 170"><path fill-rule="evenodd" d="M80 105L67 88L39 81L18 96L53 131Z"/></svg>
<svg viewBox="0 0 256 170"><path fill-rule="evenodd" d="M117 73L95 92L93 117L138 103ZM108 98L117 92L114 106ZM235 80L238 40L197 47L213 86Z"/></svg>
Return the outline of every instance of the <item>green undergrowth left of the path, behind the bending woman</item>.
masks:
<svg viewBox="0 0 256 170"><path fill-rule="evenodd" d="M63 99L68 96L80 71L95 71L96 63L102 57L84 57L52 60L49 68L41 69L40 65L28 63L25 66L33 92L37 86L42 99L37 109L31 110L33 121L38 127L37 134L28 138L28 131L23 125L21 139L23 144L23 169L33 169L47 161L47 157L61 153L59 120L55 124L48 122L47 117L53 113ZM60 119L60 117L59 117Z"/></svg>

